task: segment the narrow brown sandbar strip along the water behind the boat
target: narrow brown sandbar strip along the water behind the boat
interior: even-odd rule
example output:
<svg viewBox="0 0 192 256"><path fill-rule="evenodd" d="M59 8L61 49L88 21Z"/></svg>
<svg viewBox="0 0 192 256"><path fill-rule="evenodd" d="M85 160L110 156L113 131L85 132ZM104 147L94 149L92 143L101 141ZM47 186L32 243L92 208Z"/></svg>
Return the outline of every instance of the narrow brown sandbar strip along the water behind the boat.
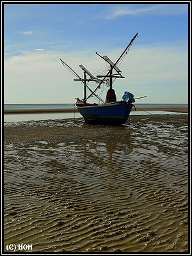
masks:
<svg viewBox="0 0 192 256"><path fill-rule="evenodd" d="M136 110L135 110L136 109ZM178 113L188 113L186 106L162 106L152 108L132 108L132 111L170 111ZM75 113L77 108L29 108L29 109L4 109L4 114L20 114L20 113Z"/></svg>

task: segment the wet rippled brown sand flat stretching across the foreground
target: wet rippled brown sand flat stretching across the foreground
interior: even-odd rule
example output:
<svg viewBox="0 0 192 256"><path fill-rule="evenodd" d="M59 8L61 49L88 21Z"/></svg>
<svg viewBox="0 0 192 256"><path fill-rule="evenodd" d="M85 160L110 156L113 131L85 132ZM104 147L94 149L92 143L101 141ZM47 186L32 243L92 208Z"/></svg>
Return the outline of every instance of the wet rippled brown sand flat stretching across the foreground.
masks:
<svg viewBox="0 0 192 256"><path fill-rule="evenodd" d="M188 115L4 126L4 252L188 252ZM19 250L17 250L19 252Z"/></svg>

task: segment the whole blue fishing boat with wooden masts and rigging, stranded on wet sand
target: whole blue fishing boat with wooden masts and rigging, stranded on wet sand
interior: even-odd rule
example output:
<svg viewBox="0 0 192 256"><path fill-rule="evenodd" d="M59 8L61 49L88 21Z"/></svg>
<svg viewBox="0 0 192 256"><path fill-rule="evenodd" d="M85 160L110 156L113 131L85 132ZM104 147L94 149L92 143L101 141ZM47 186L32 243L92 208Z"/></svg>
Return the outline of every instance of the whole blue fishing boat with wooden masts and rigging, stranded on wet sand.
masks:
<svg viewBox="0 0 192 256"><path fill-rule="evenodd" d="M82 78L67 63L65 63L65 61L60 59L63 66L67 67L68 70L70 70L70 72L77 77L77 79L74 79L74 81L83 82L84 98L76 98L76 108L83 116L84 122L92 124L121 125L125 124L129 118L131 109L134 106L132 103L135 102L134 95L130 92L125 92L122 96L122 100L117 101L115 90L113 89L113 82L117 78L125 78L122 76L122 71L118 68L118 64L120 64L120 61L122 61L122 59L125 57L125 54L127 54L137 36L138 33L134 35L129 45L127 45L115 62L111 61L108 56L101 56L98 52L95 52L108 64L108 70L106 71L106 74L103 75L93 76L93 74L83 65L79 65L79 67L83 70ZM91 81L95 84L94 90L92 90L89 86ZM109 87L108 92L106 93L105 101L97 94L97 90L99 90L103 84L104 86ZM89 95L87 93L88 91L90 92ZM95 97L97 100L99 100L99 102L89 103L88 99L90 99L90 97Z"/></svg>

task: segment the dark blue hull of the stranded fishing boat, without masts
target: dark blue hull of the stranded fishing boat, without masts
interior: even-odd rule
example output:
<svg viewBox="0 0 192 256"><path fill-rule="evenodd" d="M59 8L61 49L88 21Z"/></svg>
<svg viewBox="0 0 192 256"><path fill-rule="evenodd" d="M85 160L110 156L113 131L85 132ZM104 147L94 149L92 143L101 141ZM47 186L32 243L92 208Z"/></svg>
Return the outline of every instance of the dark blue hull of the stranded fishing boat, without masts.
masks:
<svg viewBox="0 0 192 256"><path fill-rule="evenodd" d="M90 106L76 105L84 121L93 124L125 124L132 106L125 101Z"/></svg>

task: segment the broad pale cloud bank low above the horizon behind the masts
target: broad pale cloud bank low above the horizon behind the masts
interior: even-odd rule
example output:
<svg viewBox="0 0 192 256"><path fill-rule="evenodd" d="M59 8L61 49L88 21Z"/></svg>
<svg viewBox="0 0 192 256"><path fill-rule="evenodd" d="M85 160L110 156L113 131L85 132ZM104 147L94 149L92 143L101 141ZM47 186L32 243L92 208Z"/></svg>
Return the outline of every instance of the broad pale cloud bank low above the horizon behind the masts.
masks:
<svg viewBox="0 0 192 256"><path fill-rule="evenodd" d="M180 44L136 46L133 45L120 65L125 79L116 79L117 99L125 90L135 97L147 96L147 102L184 103L188 100L188 52ZM115 61L122 49L108 52ZM4 61L4 103L72 103L75 97L83 98L83 84L60 63L64 60L80 77L84 65L93 75L101 74L106 62L88 52L25 52ZM97 70L100 70L100 72ZM93 84L90 87L93 90ZM106 95L104 86L102 99ZM177 89L178 93L174 93ZM98 93L101 90L97 91ZM182 97L180 97L182 95ZM167 99L171 97L170 99ZM159 102L158 102L159 99ZM165 100L166 101L163 101ZM178 101L181 100L181 102ZM92 100L95 102L95 99ZM146 102L146 100L145 100ZM146 102L146 103L147 103Z"/></svg>

